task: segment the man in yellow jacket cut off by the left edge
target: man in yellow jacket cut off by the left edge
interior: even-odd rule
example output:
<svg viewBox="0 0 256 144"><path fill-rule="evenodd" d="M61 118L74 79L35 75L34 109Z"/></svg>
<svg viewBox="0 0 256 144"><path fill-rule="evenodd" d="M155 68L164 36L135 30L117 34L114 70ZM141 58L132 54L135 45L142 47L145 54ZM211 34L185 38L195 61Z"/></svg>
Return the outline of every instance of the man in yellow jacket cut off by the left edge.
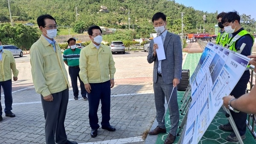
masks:
<svg viewBox="0 0 256 144"><path fill-rule="evenodd" d="M12 71L11 71L12 69ZM15 117L12 113L12 73L13 81L17 81L19 71L16 69L15 59L12 52L9 50L3 50L2 40L0 39L0 93L1 86L3 87L4 94L4 112L8 117ZM0 97L1 98L1 97ZM2 117L2 104L0 102L0 121L3 120Z"/></svg>

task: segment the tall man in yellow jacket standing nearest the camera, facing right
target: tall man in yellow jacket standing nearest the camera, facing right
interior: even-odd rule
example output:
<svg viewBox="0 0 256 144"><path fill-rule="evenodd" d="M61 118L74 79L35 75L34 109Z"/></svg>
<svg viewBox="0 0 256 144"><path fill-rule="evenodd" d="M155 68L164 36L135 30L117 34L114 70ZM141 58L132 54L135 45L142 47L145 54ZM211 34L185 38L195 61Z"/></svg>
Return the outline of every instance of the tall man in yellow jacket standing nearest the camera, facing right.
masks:
<svg viewBox="0 0 256 144"><path fill-rule="evenodd" d="M58 25L49 14L39 16L37 23L42 35L31 46L30 63L35 91L41 94L46 144L77 144L67 140L64 127L69 82L60 46L53 39Z"/></svg>

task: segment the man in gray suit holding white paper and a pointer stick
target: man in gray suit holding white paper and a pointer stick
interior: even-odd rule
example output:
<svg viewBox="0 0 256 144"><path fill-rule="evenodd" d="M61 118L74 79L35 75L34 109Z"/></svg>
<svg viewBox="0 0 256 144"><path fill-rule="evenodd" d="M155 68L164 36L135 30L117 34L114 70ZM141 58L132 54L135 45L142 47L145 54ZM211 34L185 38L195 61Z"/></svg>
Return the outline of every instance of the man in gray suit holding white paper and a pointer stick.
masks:
<svg viewBox="0 0 256 144"><path fill-rule="evenodd" d="M157 110L158 126L148 132L150 135L166 133L165 120L162 119L165 113L165 99L169 101L168 108L170 112L171 130L164 144L172 144L176 138L177 127L179 124L179 108L177 103L177 84L180 83L182 71L182 47L180 37L166 30L166 15L162 12L157 12L152 17L152 22L158 36L161 36L166 59L158 60L158 46L151 40L148 48L148 63L154 62L153 70L153 88L154 98Z"/></svg>

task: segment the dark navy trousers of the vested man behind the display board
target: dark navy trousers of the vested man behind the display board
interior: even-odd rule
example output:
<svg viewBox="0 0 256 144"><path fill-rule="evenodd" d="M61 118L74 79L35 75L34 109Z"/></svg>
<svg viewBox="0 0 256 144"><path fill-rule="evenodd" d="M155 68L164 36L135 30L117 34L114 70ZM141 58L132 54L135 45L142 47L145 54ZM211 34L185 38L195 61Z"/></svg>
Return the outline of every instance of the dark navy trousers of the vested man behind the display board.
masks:
<svg viewBox="0 0 256 144"><path fill-rule="evenodd" d="M235 98L239 98L241 95L246 93L247 83L250 79L250 72L244 72L243 76L240 78L230 95L234 95ZM233 112L230 110L232 118L236 124L237 130L239 131L240 135L244 135L246 132L246 119L247 113L244 112Z"/></svg>

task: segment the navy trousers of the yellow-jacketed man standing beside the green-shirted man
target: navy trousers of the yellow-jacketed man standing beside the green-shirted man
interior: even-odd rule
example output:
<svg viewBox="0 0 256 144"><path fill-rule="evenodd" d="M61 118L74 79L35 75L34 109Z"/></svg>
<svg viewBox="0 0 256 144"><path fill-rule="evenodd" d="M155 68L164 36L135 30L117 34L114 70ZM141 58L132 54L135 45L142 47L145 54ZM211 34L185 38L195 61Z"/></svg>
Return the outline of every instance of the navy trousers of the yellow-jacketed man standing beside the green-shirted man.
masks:
<svg viewBox="0 0 256 144"><path fill-rule="evenodd" d="M88 93L89 101L89 122L92 130L99 128L99 119L98 119L98 107L99 101L101 101L102 107L102 127L110 126L110 81L103 83L94 83L91 84L90 93Z"/></svg>

